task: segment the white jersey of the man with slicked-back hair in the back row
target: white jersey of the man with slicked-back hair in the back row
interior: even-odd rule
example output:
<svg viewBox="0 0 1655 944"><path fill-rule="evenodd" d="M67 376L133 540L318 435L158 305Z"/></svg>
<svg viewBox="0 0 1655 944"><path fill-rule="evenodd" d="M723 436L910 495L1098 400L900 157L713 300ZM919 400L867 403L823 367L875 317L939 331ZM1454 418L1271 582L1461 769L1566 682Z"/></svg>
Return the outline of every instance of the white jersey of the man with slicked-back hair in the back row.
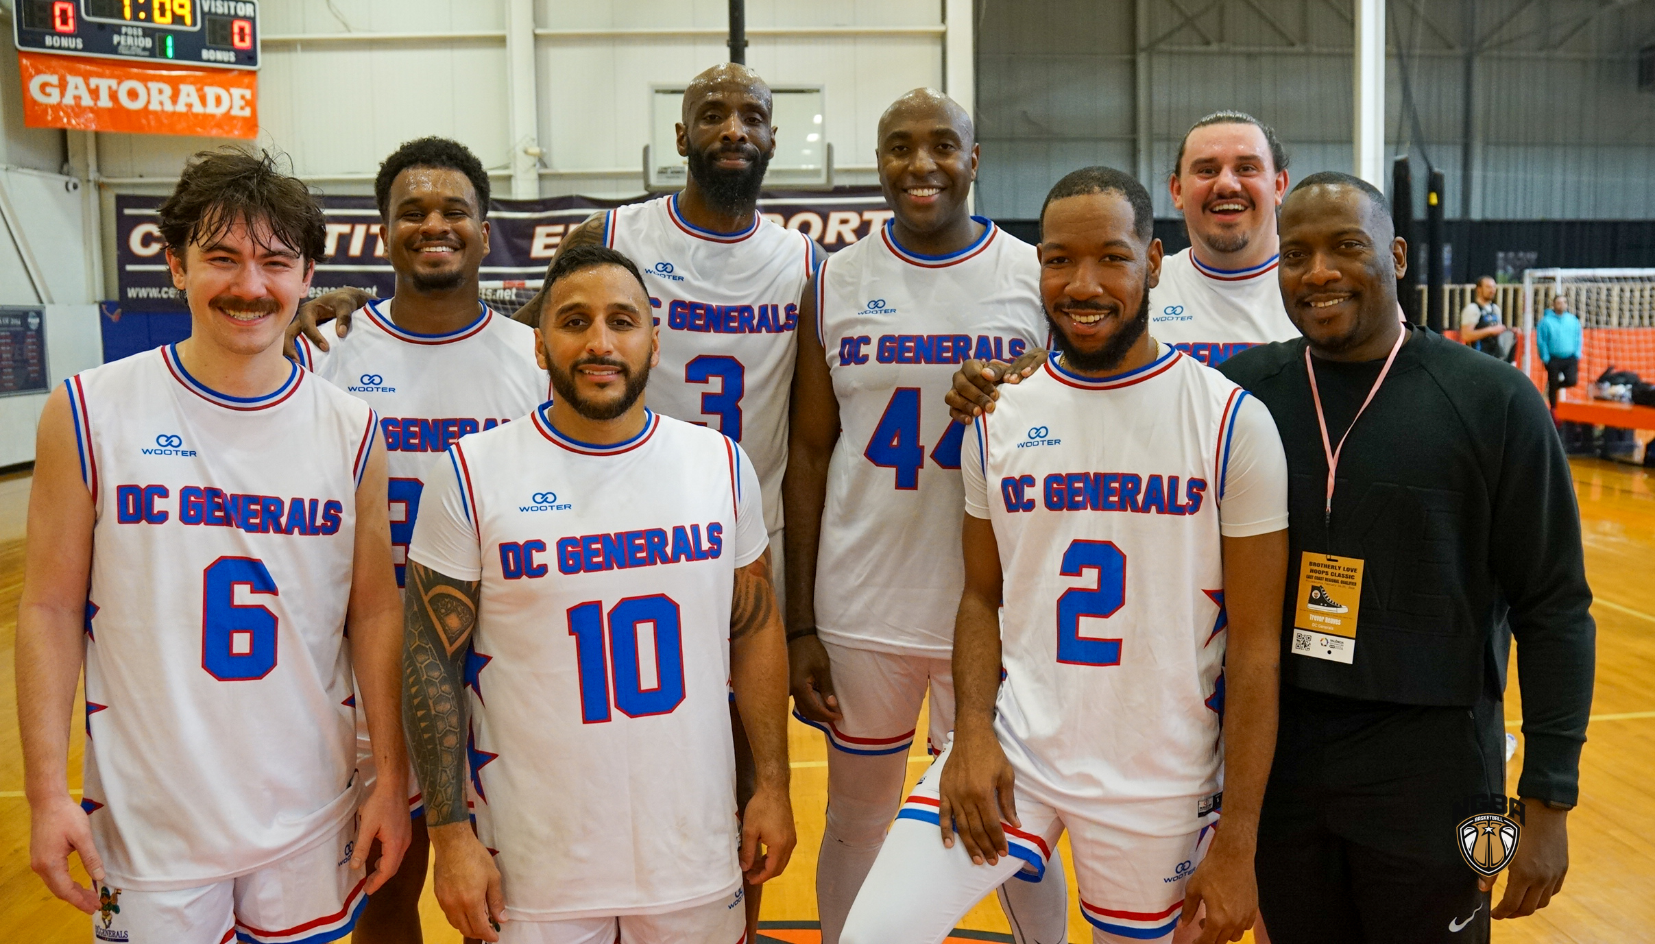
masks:
<svg viewBox="0 0 1655 944"><path fill-rule="evenodd" d="M1281 305L1276 260L1226 272L1202 265L1188 248L1168 255L1149 291L1150 333L1210 368L1256 344L1298 338Z"/></svg>

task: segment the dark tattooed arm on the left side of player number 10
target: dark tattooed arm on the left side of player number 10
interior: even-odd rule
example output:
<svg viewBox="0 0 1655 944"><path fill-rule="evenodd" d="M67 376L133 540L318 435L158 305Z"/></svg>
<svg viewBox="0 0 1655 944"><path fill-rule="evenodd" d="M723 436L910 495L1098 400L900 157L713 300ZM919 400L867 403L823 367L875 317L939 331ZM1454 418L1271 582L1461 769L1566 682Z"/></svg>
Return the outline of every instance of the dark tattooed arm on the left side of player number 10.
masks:
<svg viewBox="0 0 1655 944"><path fill-rule="evenodd" d="M425 795L425 821L458 823L465 808L468 730L465 653L482 581L453 580L409 561L402 598L402 727Z"/></svg>

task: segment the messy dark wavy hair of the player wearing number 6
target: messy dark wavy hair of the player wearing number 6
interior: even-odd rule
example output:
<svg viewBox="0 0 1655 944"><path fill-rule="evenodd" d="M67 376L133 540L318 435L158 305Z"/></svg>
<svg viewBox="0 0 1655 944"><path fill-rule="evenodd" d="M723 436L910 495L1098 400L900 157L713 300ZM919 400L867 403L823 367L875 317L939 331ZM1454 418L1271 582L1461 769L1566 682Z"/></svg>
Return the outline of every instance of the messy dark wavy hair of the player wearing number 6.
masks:
<svg viewBox="0 0 1655 944"><path fill-rule="evenodd" d="M298 177L283 174L268 151L197 151L159 215L161 238L180 260L192 242L210 243L237 224L250 230L268 227L271 240L311 263L321 262L328 242L316 195ZM250 235L261 238L257 230ZM273 248L266 242L258 245Z"/></svg>

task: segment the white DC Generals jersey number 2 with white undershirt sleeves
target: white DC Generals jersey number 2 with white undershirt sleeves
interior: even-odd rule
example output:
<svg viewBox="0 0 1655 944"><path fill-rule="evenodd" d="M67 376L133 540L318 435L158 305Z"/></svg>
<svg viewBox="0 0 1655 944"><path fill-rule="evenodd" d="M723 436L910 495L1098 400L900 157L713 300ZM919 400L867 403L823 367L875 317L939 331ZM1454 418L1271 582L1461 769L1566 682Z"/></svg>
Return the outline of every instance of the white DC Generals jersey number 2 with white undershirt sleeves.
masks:
<svg viewBox="0 0 1655 944"><path fill-rule="evenodd" d="M1223 762L1220 535L1288 527L1269 411L1167 346L1107 379L1049 363L1001 388L962 465L1005 573L995 729L1018 790L1195 831Z"/></svg>

